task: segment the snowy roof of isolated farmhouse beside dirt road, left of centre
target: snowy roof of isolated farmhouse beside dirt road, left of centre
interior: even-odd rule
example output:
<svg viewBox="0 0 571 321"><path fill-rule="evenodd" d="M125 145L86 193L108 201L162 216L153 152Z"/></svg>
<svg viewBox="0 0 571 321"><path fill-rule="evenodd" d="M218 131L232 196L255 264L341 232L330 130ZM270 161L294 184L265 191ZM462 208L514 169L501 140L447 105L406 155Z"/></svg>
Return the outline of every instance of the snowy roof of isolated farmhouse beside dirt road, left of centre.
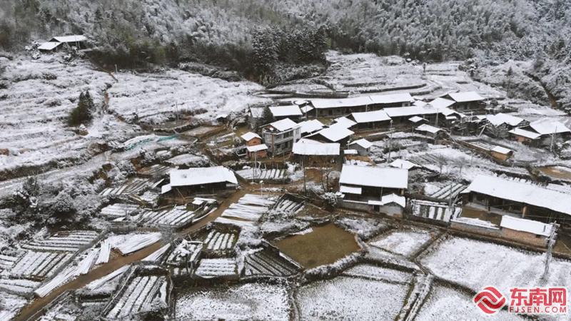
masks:
<svg viewBox="0 0 571 321"><path fill-rule="evenodd" d="M232 170L223 166L196 167L185 170L171 170L171 186L191 186L210 183L238 184Z"/></svg>

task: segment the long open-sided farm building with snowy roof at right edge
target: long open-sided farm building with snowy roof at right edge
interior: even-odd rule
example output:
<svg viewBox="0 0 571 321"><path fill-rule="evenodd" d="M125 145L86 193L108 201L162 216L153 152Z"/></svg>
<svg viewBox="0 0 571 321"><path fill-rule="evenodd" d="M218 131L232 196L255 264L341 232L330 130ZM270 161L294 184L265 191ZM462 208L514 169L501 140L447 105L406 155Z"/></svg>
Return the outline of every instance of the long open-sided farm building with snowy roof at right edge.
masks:
<svg viewBox="0 0 571 321"><path fill-rule="evenodd" d="M463 190L463 203L499 215L550 222L571 215L571 195L537 185L480 175Z"/></svg>

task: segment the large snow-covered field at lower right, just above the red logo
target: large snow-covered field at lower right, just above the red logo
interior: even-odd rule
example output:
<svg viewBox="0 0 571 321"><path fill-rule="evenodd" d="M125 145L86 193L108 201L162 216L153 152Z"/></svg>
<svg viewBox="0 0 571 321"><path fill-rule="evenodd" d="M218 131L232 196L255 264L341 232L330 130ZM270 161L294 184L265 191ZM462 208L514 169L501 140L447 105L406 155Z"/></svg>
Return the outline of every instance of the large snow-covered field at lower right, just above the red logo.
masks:
<svg viewBox="0 0 571 321"><path fill-rule="evenodd" d="M541 284L545 254L465 238L443 240L420 262L433 274L479 291L494 285L502 292L510 287ZM571 285L571 262L552 260L545 286Z"/></svg>

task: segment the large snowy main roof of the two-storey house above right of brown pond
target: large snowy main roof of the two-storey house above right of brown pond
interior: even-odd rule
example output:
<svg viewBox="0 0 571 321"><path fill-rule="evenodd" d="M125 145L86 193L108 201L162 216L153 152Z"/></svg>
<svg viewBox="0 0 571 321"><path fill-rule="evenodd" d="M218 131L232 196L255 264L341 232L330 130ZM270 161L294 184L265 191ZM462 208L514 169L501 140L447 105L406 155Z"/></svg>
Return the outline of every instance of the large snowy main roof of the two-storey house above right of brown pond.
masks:
<svg viewBox="0 0 571 321"><path fill-rule="evenodd" d="M382 188L407 188L408 170L343 165L339 183Z"/></svg>

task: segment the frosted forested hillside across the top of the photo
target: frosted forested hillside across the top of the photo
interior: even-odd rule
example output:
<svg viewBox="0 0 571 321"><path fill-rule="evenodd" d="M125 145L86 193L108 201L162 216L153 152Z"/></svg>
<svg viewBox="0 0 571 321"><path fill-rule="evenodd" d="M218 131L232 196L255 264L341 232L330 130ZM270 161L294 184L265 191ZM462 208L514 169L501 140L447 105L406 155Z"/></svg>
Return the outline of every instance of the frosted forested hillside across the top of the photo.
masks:
<svg viewBox="0 0 571 321"><path fill-rule="evenodd" d="M123 67L199 61L261 76L322 61L327 46L421 61L571 61L571 0L4 0L0 16L4 49L86 34L96 58Z"/></svg>

